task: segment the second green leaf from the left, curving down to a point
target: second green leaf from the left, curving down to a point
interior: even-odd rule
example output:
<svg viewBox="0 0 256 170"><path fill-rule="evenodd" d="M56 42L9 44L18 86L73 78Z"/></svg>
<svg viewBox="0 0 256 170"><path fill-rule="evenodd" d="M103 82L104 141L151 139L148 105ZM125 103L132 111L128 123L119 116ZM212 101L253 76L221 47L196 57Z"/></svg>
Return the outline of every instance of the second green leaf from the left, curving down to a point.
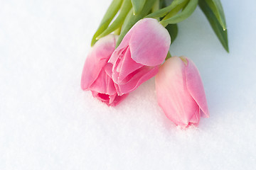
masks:
<svg viewBox="0 0 256 170"><path fill-rule="evenodd" d="M96 38L96 40L99 40L100 38L112 33L114 30L117 30L117 28L121 27L122 24L124 23L125 17L127 16L127 13L129 13L131 8L132 8L131 0L124 0L117 18L102 34L100 34Z"/></svg>

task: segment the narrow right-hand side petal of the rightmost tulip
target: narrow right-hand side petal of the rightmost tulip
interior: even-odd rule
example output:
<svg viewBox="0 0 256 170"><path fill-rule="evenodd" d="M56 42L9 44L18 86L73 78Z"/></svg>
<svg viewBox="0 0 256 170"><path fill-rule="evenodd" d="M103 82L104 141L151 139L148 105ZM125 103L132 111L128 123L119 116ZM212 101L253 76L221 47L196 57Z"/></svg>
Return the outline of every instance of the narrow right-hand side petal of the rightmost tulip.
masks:
<svg viewBox="0 0 256 170"><path fill-rule="evenodd" d="M186 67L186 84L188 91L196 103L198 103L201 111L208 118L209 111L201 76L198 72L198 69L196 68L196 65L188 58L186 58L186 60L188 61L188 65ZM203 116L203 114L201 114L201 116Z"/></svg>

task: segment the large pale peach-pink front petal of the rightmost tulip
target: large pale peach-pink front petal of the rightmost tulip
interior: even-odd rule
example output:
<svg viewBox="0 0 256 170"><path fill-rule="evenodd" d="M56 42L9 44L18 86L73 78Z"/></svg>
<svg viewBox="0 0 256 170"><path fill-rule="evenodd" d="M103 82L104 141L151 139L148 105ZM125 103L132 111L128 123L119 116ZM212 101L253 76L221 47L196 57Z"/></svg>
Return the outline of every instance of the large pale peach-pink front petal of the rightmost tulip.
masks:
<svg viewBox="0 0 256 170"><path fill-rule="evenodd" d="M186 127L198 120L199 110L186 86L186 66L179 57L171 57L160 67L156 75L156 94L159 106L166 116ZM196 114L196 116L195 116Z"/></svg>

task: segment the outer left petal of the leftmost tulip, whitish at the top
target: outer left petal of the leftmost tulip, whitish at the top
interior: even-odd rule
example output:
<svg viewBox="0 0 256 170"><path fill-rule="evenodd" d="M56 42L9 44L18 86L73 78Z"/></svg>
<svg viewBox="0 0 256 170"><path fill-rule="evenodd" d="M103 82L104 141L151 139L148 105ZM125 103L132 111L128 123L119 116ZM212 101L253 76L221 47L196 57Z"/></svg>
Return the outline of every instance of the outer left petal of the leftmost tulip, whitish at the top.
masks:
<svg viewBox="0 0 256 170"><path fill-rule="evenodd" d="M88 90L90 85L97 79L102 67L107 64L114 51L116 38L117 35L107 35L98 40L92 47L82 70L81 88L83 90Z"/></svg>

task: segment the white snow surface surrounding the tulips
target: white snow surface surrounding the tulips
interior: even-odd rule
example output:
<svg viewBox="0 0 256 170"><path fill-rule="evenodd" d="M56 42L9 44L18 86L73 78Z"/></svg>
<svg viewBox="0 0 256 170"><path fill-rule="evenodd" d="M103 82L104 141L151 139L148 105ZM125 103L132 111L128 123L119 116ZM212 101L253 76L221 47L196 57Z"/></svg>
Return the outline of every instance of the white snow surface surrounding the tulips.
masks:
<svg viewBox="0 0 256 170"><path fill-rule="evenodd" d="M178 24L171 55L196 63L210 111L187 130L154 79L115 108L80 89L110 2L0 1L0 169L255 169L256 2L222 1L230 53L200 8Z"/></svg>

